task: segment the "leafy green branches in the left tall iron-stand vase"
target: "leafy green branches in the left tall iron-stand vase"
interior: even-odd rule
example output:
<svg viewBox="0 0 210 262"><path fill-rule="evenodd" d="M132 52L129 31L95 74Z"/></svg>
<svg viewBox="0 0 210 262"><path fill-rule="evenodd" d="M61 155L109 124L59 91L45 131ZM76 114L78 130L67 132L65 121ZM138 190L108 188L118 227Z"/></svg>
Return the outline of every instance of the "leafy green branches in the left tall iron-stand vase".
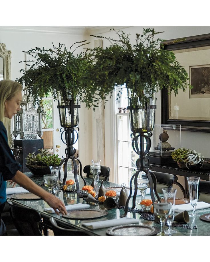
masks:
<svg viewBox="0 0 210 262"><path fill-rule="evenodd" d="M32 59L19 62L26 62L29 69L21 69L19 72L23 73L23 76L16 81L22 85L25 83L28 100L31 96L35 105L49 93L52 93L54 99L58 99L60 95L62 103L67 105L77 96L80 99L83 89L81 76L92 63L86 52L74 54L78 47L89 44L89 42L84 42L86 40L72 44L69 50L64 44L59 43L58 47L53 44L53 48L49 49L35 47L29 51L23 51L31 55ZM80 45L74 48L75 44ZM72 48L74 48L73 51Z"/></svg>

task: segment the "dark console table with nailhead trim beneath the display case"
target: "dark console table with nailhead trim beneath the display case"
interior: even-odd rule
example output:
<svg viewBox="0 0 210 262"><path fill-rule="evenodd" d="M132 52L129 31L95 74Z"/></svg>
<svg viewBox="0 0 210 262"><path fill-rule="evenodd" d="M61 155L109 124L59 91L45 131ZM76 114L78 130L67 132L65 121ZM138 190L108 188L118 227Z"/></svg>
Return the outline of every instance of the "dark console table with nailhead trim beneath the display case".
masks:
<svg viewBox="0 0 210 262"><path fill-rule="evenodd" d="M169 173L174 175L174 184L178 185L184 195L187 197L188 185L187 185L187 177L200 177L203 180L210 181L210 169L181 169L178 167L176 163L158 165L151 164L151 171ZM184 177L184 187L177 182L177 175Z"/></svg>

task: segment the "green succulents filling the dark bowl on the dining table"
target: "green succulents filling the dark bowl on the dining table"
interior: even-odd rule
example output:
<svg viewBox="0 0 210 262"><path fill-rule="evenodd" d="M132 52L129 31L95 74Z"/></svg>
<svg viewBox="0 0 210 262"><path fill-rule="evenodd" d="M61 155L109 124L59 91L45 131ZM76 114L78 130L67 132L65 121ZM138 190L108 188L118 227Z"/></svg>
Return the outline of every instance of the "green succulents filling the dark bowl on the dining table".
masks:
<svg viewBox="0 0 210 262"><path fill-rule="evenodd" d="M47 149L38 149L39 153L35 155L35 152L29 153L26 157L27 165L60 165L61 158L58 155L51 155Z"/></svg>

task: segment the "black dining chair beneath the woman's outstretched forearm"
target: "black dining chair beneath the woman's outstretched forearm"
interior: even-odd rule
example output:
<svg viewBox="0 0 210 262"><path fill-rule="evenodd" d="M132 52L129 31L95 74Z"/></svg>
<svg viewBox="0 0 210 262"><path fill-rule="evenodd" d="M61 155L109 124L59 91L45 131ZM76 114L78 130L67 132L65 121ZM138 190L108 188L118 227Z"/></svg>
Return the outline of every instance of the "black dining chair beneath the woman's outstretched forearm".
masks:
<svg viewBox="0 0 210 262"><path fill-rule="evenodd" d="M38 211L7 200L10 214L20 236L42 236L41 215Z"/></svg>

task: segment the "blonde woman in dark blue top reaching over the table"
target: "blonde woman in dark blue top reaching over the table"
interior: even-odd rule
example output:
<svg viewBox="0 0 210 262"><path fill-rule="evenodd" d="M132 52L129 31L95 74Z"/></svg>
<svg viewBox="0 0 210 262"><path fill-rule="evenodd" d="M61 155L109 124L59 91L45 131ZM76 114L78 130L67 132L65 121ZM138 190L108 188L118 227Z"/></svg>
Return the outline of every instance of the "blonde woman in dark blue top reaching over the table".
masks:
<svg viewBox="0 0 210 262"><path fill-rule="evenodd" d="M4 228L1 212L6 202L7 180L12 180L31 193L43 198L58 215L59 212L56 209L62 214L67 214L65 205L60 199L36 185L20 171L20 165L16 162L15 157L11 153L11 148L9 148L7 131L3 122L5 123L7 118L12 119L20 111L22 89L22 86L15 81L0 81L0 235L3 234L1 231L3 232Z"/></svg>

